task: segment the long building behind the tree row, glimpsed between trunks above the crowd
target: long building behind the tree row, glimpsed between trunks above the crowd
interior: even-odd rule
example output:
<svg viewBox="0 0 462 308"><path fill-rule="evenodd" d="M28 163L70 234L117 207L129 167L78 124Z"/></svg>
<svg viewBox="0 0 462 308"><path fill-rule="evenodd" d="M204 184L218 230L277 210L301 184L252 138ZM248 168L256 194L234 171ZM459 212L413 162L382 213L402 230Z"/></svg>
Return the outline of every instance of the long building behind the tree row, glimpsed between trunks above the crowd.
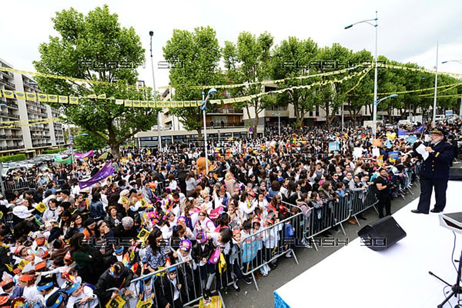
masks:
<svg viewBox="0 0 462 308"><path fill-rule="evenodd" d="M277 90L277 85L265 85L265 92ZM166 89L162 95L162 100L171 100L174 97L175 89ZM222 93L226 98L231 97L228 92ZM268 94L271 95L271 94ZM372 101L371 101L372 103ZM345 127L352 126L352 117L345 103L342 108L335 110L336 118L332 125L340 125L341 115L343 113ZM381 118L388 119L388 113L378 111L377 115ZM398 117L399 111L394 109L392 112L394 117ZM210 139L223 139L230 137L248 136L250 122L255 121L256 114L253 107L247 109L237 109L232 104L225 105L208 105L205 115L205 124L207 129L207 136ZM277 129L281 127L290 126L296 121L295 110L293 105L280 105L272 106L263 109L258 114L257 133L264 135L267 129ZM362 125L364 120L372 118L372 104L371 106L363 106L359 113L356 115L357 125ZM316 106L313 110L307 112L304 116L303 124L305 126L319 126L326 124L327 116L325 110ZM203 120L201 118L203 125ZM198 138L197 131L186 131L181 124L180 118L170 113L168 108L163 108L161 112L161 139L162 146L169 145L172 142L191 142L196 141ZM203 132L203 129L202 129ZM158 130L157 124L151 127L151 130L139 132L135 135L138 139L140 147L157 147L158 145Z"/></svg>

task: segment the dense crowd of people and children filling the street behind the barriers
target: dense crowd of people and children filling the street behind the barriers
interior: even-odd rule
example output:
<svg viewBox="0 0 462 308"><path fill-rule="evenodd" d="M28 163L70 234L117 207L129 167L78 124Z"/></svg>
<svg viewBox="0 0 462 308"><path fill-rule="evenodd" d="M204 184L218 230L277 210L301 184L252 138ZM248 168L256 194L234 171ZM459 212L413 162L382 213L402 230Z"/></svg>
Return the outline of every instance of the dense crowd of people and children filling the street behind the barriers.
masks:
<svg viewBox="0 0 462 308"><path fill-rule="evenodd" d="M460 121L444 124L445 142L457 142L460 127ZM239 255L253 234L261 234L262 258L271 260L259 271L265 276L277 267L272 254L280 238L297 228L262 232L279 221L374 185L379 217L391 215L390 201L417 177L419 157L405 155L425 136L410 141L381 128L376 155L365 128L283 128L281 135L214 142L208 174L203 151L191 145L161 153L122 149L122 158L107 157L112 176L84 189L79 179L106 161L93 157L36 172L29 189L7 190L0 202L0 307L93 308L118 296L129 306L151 300L181 307L185 293L209 298L220 255L239 291L239 280L252 283ZM396 151L398 158L390 155ZM199 277L197 288L175 266L184 261ZM165 275L152 275L165 267Z"/></svg>

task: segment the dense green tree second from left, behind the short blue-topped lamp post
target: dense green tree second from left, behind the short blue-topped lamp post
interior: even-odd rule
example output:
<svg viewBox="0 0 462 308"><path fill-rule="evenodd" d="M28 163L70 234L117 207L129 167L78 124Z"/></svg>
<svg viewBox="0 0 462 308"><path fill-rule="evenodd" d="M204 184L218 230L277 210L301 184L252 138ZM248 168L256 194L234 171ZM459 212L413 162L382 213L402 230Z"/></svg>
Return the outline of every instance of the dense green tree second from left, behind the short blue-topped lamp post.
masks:
<svg viewBox="0 0 462 308"><path fill-rule="evenodd" d="M173 31L172 37L162 48L164 58L170 63L182 63L181 69L170 70L170 86L175 88L176 100L202 100L210 85L223 84L225 79L219 70L220 47L215 30L210 27ZM203 89L191 89L191 86ZM171 108L170 113L180 117L184 128L196 130L202 138L202 111L200 107Z"/></svg>

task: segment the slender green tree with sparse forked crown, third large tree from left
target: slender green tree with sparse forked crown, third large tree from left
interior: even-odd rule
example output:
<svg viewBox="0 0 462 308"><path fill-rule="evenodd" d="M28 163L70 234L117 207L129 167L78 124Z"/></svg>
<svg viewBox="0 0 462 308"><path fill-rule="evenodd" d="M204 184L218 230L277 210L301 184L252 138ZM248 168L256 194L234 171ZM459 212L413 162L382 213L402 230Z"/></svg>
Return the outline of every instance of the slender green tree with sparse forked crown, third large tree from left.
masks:
<svg viewBox="0 0 462 308"><path fill-rule="evenodd" d="M258 38L249 32L241 32L237 44L225 42L222 54L227 77L233 84L248 84L240 88L230 89L231 95L249 96L264 91L260 82L267 79L270 74L270 51L273 41L273 36L267 32L260 34ZM254 97L234 104L236 108L246 110L247 117L251 121L254 138L257 137L260 113L266 106L272 104L274 104L274 97L270 95Z"/></svg>

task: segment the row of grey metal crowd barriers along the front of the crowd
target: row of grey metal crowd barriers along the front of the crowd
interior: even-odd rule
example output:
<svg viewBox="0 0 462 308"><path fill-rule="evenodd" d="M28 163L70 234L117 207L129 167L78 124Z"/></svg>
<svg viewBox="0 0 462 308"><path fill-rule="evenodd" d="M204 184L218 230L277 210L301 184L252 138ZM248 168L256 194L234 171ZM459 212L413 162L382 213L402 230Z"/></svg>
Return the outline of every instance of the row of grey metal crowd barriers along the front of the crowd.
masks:
<svg viewBox="0 0 462 308"><path fill-rule="evenodd" d="M418 166L413 169L413 172L417 171ZM406 179L404 188L410 189L409 183L410 180ZM159 182L156 193L160 195L163 191L164 183ZM224 255L225 265L220 265L220 262L197 264L192 260L183 261L172 264L176 269L176 285L169 280L171 266L167 269L159 269L150 275L134 278L128 288L133 292L130 296L124 296L121 290L113 291L120 293L120 297L125 301L124 308L147 308L151 305L163 307L167 299L175 298L177 298L176 304L170 307L189 305L203 298L204 289L207 289L210 295L217 295L222 306L225 307L221 294L223 288L227 288L240 278L252 278L255 288L259 291L257 272L266 276L269 271L275 270L281 256L293 256L298 264L295 255L297 247L313 244L318 250L316 236L332 228L340 228L345 235L343 223L351 218L354 218L360 226L358 215L370 208L374 208L377 212L376 192L375 185L371 185L367 190L349 193L308 210L296 204L283 202L288 211L295 208L298 213L280 221L276 220L273 225L268 225L259 231L249 231L248 235L242 232L240 244L232 245L231 253ZM262 219L262 224L263 221ZM176 247L171 248L174 251L176 249ZM171 275L175 276L175 274ZM146 277L151 277L152 287L149 287L149 283L146 284ZM146 288L151 288L152 298L145 299L146 295L149 295ZM103 307L100 300L96 300L97 305Z"/></svg>

